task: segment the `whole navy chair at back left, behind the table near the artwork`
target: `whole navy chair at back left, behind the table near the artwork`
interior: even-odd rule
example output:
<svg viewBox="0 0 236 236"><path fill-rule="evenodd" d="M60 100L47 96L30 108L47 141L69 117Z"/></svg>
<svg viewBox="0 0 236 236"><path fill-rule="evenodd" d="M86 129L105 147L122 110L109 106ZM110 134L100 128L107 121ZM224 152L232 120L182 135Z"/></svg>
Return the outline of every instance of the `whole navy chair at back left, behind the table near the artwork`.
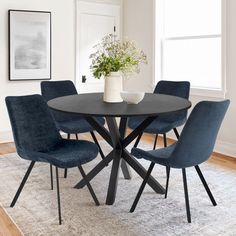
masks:
<svg viewBox="0 0 236 236"><path fill-rule="evenodd" d="M41 93L47 102L57 97L78 94L73 82L70 80L43 81L41 82ZM90 132L94 142L99 148L101 157L104 158L104 154L93 132L93 128L82 116L66 114L59 111L52 111L52 113L58 129L66 133L68 139L70 139L71 134L75 134L76 139L78 140L79 133ZM105 124L105 120L102 117L97 119L102 125ZM65 169L64 177L67 177L67 169Z"/></svg>

